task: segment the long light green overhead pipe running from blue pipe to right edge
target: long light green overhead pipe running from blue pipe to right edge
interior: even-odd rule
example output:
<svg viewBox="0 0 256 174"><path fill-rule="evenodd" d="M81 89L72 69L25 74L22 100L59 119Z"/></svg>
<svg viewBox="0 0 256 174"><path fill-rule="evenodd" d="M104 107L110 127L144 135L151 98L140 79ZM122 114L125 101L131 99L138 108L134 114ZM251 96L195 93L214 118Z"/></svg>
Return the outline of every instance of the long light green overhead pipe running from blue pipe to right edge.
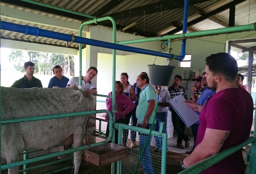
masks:
<svg viewBox="0 0 256 174"><path fill-rule="evenodd" d="M117 41L116 43L124 45L124 44L131 44L131 43L150 42L150 41L156 41L156 40L179 39L184 37L187 38L187 37L208 36L208 35L214 35L214 34L235 33L235 32L241 32L241 31L256 31L256 23L235 26L235 27L218 28L213 30L195 31L190 33L150 37L150 38L144 38L144 39Z"/></svg>

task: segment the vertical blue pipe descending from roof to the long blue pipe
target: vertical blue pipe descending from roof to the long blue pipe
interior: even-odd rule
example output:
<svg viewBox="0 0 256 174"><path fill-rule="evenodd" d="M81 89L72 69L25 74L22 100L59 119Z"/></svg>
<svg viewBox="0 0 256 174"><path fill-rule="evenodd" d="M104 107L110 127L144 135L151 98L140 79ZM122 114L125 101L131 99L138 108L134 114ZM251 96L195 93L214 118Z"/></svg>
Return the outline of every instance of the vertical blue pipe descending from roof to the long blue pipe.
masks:
<svg viewBox="0 0 256 174"><path fill-rule="evenodd" d="M187 32L187 25L188 25L188 10L189 10L189 0L184 0L184 14L183 14L183 30L182 33ZM181 41L181 53L180 56L182 57L181 60L185 58L186 55L186 39Z"/></svg>

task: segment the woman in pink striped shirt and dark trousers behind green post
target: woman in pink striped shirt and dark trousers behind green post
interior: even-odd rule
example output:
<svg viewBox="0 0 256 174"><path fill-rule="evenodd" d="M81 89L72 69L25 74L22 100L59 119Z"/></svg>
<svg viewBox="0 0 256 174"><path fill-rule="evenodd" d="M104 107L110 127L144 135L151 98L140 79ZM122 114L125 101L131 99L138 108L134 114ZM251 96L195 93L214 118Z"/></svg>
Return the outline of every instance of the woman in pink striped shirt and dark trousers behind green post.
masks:
<svg viewBox="0 0 256 174"><path fill-rule="evenodd" d="M124 86L122 85L122 83L120 81L116 81L115 100L117 105L117 112L115 113L115 122L124 124L125 114L128 114L129 112L131 112L135 108L135 105L128 96L123 94L123 91L124 91ZM112 92L108 93L108 95L112 96ZM106 105L107 105L107 110L112 112L112 98L106 99ZM106 114L105 120L109 120L108 114ZM108 137L108 134L109 134L109 123L107 124L107 130L106 130L107 137ZM118 130L115 130L115 143L116 144L118 143Z"/></svg>

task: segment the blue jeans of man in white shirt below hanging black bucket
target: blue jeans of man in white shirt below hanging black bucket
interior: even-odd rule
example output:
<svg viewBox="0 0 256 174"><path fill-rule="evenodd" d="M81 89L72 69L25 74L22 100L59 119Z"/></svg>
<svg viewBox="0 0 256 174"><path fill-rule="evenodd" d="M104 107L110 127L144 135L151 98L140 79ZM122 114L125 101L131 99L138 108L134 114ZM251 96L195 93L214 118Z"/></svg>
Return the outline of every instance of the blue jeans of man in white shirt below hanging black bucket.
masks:
<svg viewBox="0 0 256 174"><path fill-rule="evenodd" d="M166 133L167 112L156 113L155 131L159 131L161 122L165 122L165 127L163 127L163 132ZM156 146L156 149L162 151L162 137L155 136L155 146Z"/></svg>

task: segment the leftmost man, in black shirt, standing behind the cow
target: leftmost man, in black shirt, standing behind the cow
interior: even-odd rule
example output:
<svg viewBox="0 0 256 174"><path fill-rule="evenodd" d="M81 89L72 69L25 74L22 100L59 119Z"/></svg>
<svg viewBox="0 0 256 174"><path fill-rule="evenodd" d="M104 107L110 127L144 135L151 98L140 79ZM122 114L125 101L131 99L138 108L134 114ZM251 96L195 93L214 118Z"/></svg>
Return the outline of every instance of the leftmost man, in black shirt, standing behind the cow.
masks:
<svg viewBox="0 0 256 174"><path fill-rule="evenodd" d="M24 63L25 75L19 80L16 80L12 84L12 88L43 88L43 85L39 79L33 76L35 71L35 64L32 62Z"/></svg>

